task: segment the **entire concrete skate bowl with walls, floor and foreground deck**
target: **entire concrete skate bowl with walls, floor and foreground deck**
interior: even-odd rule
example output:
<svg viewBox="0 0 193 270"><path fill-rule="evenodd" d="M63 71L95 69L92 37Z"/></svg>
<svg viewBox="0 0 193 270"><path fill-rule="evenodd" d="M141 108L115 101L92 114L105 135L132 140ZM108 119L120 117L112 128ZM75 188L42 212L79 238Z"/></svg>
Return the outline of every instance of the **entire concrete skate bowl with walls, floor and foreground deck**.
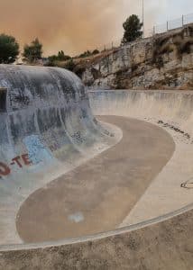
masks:
<svg viewBox="0 0 193 270"><path fill-rule="evenodd" d="M0 269L192 269L193 94L0 83Z"/></svg>

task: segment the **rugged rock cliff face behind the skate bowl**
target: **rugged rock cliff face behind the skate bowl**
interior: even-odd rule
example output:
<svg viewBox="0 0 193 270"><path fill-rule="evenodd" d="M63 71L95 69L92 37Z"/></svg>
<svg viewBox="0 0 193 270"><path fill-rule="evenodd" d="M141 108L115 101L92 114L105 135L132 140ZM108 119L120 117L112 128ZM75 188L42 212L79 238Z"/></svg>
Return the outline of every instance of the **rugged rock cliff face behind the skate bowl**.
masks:
<svg viewBox="0 0 193 270"><path fill-rule="evenodd" d="M115 49L82 79L100 89L193 90L193 24Z"/></svg>

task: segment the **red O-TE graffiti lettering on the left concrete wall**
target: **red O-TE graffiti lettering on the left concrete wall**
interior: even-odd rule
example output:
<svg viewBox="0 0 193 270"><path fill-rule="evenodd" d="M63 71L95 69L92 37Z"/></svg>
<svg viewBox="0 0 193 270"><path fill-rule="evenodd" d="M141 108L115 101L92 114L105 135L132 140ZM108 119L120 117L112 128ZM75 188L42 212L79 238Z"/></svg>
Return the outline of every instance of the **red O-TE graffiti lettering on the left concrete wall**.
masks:
<svg viewBox="0 0 193 270"><path fill-rule="evenodd" d="M30 166L32 161L30 160L28 154L23 154L22 156L17 156L12 158L9 165L4 162L0 162L0 177L10 175L12 168L14 166L23 168L23 166Z"/></svg>

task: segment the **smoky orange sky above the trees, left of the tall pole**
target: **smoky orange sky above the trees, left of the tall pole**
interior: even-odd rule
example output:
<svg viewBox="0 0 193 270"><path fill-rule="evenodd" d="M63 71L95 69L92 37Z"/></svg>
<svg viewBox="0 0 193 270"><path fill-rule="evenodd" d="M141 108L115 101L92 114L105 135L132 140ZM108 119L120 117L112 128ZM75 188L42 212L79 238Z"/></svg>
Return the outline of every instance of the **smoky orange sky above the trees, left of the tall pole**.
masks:
<svg viewBox="0 0 193 270"><path fill-rule="evenodd" d="M146 6L146 27L152 27L156 6ZM130 14L142 18L142 0L0 0L0 32L23 44L38 37L43 54L63 49L75 55L96 49L123 35Z"/></svg>

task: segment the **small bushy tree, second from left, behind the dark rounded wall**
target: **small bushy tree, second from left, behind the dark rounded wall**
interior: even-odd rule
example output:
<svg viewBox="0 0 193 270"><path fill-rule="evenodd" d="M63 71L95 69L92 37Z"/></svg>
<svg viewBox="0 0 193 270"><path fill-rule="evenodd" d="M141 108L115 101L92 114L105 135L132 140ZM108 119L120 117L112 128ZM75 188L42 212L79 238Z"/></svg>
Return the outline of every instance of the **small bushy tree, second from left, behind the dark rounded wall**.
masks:
<svg viewBox="0 0 193 270"><path fill-rule="evenodd" d="M31 45L24 45L23 61L28 63L35 63L37 60L41 59L41 56L42 44L37 38L32 40Z"/></svg>

